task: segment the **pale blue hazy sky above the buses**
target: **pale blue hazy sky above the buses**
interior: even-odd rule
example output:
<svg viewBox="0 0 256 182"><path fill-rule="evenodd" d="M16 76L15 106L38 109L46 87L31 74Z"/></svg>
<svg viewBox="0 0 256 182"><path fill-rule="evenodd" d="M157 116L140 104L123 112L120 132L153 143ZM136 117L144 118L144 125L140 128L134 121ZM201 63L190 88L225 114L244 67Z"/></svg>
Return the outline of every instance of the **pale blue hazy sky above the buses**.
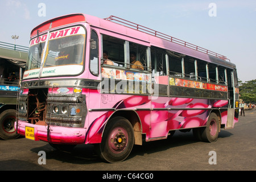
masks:
<svg viewBox="0 0 256 182"><path fill-rule="evenodd" d="M256 79L255 0L1 0L0 42L29 45L30 32L56 16L84 13L129 20L226 56L242 82Z"/></svg>

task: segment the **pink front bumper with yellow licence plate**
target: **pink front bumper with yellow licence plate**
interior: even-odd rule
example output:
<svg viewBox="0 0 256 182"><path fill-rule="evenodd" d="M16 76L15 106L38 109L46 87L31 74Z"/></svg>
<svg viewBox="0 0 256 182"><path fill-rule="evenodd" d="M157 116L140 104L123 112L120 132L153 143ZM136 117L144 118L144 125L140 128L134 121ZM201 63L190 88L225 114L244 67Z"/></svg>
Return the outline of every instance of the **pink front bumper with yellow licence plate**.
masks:
<svg viewBox="0 0 256 182"><path fill-rule="evenodd" d="M49 143L56 144L83 144L85 143L86 129L48 126L48 125L34 125L31 123L18 121L18 134L32 140L43 140Z"/></svg>

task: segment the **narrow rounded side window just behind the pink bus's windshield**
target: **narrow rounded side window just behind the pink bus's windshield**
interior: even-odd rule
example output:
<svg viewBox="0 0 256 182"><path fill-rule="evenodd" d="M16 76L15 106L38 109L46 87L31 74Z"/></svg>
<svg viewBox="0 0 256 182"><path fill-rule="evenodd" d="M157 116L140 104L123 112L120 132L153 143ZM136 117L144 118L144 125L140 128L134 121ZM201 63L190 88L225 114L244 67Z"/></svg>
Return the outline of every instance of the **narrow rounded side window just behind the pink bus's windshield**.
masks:
<svg viewBox="0 0 256 182"><path fill-rule="evenodd" d="M90 72L98 76L98 35L93 30L90 38Z"/></svg>

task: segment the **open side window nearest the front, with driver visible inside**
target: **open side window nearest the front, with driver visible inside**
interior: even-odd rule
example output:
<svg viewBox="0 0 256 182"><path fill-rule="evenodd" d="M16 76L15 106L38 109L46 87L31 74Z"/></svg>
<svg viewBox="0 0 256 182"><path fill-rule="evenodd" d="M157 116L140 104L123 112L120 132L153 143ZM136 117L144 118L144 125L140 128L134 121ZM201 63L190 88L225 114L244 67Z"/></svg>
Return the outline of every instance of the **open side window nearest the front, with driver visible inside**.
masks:
<svg viewBox="0 0 256 182"><path fill-rule="evenodd" d="M102 52L108 52L108 59L113 62L114 66L125 67L125 41L114 38L109 35L102 35L103 48ZM105 61L103 55L102 63Z"/></svg>

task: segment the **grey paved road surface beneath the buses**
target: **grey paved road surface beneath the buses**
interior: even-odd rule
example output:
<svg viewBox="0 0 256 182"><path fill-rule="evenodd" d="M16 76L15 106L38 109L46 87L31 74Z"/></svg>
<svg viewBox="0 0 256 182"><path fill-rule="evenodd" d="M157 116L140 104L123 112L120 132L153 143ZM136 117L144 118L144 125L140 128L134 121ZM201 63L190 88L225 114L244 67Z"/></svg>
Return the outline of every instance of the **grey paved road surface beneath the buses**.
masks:
<svg viewBox="0 0 256 182"><path fill-rule="evenodd" d="M61 152L41 141L25 138L0 140L0 170L255 171L255 131L256 110L249 110L245 117L240 117L234 129L221 130L217 142L197 142L192 132L177 131L170 139L135 146L128 159L114 164L98 159L92 145L80 145L72 152ZM39 151L46 152L46 164L38 163ZM216 164L209 164L209 159Z"/></svg>

